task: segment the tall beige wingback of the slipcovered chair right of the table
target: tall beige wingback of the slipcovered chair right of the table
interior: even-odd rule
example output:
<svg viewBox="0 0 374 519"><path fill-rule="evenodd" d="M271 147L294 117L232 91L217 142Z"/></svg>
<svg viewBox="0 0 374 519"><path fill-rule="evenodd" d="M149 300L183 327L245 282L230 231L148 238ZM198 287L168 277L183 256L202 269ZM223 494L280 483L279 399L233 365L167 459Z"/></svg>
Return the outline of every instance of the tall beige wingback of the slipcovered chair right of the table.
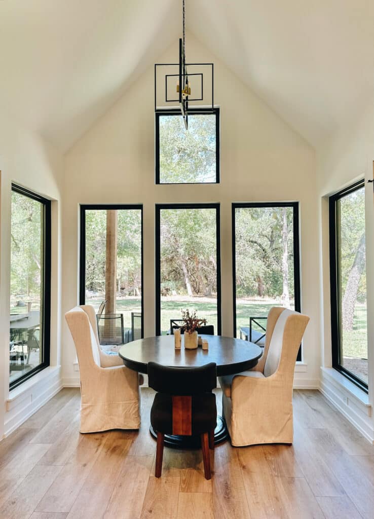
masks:
<svg viewBox="0 0 374 519"><path fill-rule="evenodd" d="M282 370L285 374L292 374L293 377L297 352L308 322L308 316L286 308L282 309L276 319L268 346L264 365L266 377L278 370Z"/></svg>

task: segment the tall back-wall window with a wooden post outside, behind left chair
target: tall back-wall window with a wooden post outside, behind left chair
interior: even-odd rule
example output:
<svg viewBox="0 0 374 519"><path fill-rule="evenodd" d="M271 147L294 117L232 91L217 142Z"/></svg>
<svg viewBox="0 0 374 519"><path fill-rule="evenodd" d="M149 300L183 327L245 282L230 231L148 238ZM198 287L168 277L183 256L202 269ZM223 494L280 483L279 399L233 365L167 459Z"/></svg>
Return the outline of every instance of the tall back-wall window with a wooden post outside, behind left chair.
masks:
<svg viewBox="0 0 374 519"><path fill-rule="evenodd" d="M80 304L107 349L143 337L142 206L80 206Z"/></svg>

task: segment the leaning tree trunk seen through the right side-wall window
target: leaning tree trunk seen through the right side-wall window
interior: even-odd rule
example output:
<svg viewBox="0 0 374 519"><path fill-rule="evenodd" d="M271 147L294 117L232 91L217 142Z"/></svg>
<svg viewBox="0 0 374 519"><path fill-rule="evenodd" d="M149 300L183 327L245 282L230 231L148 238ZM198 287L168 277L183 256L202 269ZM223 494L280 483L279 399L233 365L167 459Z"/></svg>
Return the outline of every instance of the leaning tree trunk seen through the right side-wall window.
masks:
<svg viewBox="0 0 374 519"><path fill-rule="evenodd" d="M343 297L343 330L352 331L358 285L365 267L365 233L361 236Z"/></svg>

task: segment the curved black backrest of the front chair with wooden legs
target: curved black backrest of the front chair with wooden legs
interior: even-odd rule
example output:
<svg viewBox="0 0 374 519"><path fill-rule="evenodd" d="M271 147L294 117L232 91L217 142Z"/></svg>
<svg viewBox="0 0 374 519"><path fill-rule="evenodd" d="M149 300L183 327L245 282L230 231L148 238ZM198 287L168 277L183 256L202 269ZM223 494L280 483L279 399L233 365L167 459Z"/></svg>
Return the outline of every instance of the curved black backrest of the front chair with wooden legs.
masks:
<svg viewBox="0 0 374 519"><path fill-rule="evenodd" d="M169 367L148 362L148 386L159 393L192 396L210 393L217 387L214 362L199 367Z"/></svg>

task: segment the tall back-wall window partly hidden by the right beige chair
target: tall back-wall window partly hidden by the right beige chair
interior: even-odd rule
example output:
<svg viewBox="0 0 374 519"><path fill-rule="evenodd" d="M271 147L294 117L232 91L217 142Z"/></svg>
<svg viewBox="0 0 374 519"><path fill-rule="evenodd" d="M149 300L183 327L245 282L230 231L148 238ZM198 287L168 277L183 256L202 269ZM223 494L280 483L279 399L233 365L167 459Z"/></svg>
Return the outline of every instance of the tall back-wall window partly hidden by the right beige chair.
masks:
<svg viewBox="0 0 374 519"><path fill-rule="evenodd" d="M262 346L272 306L300 311L298 203L233 203L232 241L234 336Z"/></svg>

